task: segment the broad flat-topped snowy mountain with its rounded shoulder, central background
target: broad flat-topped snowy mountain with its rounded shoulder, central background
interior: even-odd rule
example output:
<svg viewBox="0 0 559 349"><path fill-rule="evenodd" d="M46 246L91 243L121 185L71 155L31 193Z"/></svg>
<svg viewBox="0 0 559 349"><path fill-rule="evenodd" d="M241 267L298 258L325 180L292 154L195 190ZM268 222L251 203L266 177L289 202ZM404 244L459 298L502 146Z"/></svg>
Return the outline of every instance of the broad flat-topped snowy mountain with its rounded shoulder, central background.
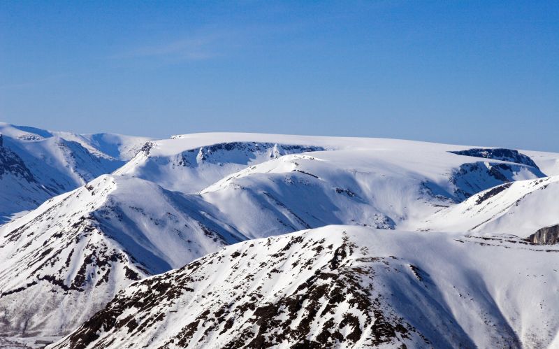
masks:
<svg viewBox="0 0 559 349"><path fill-rule="evenodd" d="M412 229L441 206L544 176L515 150L487 150L483 159L451 152L468 149L381 138L191 134L148 143L115 173L199 193L213 214L250 238L330 224ZM502 156L509 153L516 157Z"/></svg>

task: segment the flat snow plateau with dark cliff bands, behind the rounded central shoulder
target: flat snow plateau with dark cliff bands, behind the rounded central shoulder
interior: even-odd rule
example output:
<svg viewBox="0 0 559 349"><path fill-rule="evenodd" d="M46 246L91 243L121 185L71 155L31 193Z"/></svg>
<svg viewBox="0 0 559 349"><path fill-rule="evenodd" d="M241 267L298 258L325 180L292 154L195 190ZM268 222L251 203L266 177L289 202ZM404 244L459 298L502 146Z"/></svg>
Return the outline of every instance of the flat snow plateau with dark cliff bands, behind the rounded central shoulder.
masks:
<svg viewBox="0 0 559 349"><path fill-rule="evenodd" d="M470 148L384 138L187 134L151 142L117 173L151 180L170 190L193 193L247 166L283 155L344 150L346 159L354 159L357 164L362 155L367 155L371 161L376 159L404 169L423 171L429 176L444 174L447 181L458 180L455 189L460 192L456 194L462 199L478 192L480 187L486 189L503 180L545 176L537 167L523 162L503 162L500 161L502 157L491 156L482 160L449 153ZM359 151L358 156L352 156L350 152L356 151ZM496 168L491 172L493 167Z"/></svg>

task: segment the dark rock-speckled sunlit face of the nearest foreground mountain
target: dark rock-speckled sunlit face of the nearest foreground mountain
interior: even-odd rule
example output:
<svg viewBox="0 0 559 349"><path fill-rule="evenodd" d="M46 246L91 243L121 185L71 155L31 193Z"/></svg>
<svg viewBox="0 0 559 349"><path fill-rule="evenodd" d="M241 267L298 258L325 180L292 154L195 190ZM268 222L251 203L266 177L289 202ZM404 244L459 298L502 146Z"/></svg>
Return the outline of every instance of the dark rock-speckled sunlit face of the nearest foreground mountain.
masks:
<svg viewBox="0 0 559 349"><path fill-rule="evenodd" d="M282 248L275 250L272 245L275 240ZM211 343L216 337L219 343L223 341L223 348L270 348L281 343L290 343L292 348L331 348L333 343L344 343L348 348L358 347L357 343L365 346L398 344L405 348L404 343L410 341L430 345L414 326L395 316L382 292L370 285L375 274L384 272L389 266L407 269L407 264L397 258L365 257L358 253L359 247L345 234L337 245L324 238L297 235L255 243L272 245L270 249L275 253L270 254L268 262L253 267L253 272L245 275L236 290L215 292L222 296L210 300L205 311L194 320L185 320L161 348L203 348L205 341ZM133 292L120 292L103 311L96 313L55 348L113 347L115 339L112 337L94 342L102 332L124 331L127 336L141 336L152 327L161 327L170 308L184 303L184 299L191 302L196 297L200 292L197 284L211 278L208 269L212 265L230 261L233 262L233 273L236 273L242 270L247 259L256 259L250 249L254 243L249 248L246 245L248 243L233 253L207 255L181 269L143 280L133 285ZM303 257L308 251L312 251L309 257ZM250 255L252 257L247 257ZM323 256L327 260L321 258ZM297 285L293 291L279 291L275 301L265 301L268 294L262 289L266 288L266 279L281 278L286 272L282 271L282 264L291 265L296 274L317 269L306 280L293 280ZM259 276L262 269L268 274L264 280L258 281L262 279ZM412 278L408 276L407 280ZM255 282L258 287L249 287ZM224 302L220 299L222 297L230 298ZM203 298L200 301L205 301ZM350 310L344 310L347 305ZM183 313L189 309L178 308L177 311ZM123 313L130 315L124 318ZM324 326L314 329L313 325L326 318L329 320ZM242 323L241 319L248 320ZM318 332L314 333L315 330Z"/></svg>

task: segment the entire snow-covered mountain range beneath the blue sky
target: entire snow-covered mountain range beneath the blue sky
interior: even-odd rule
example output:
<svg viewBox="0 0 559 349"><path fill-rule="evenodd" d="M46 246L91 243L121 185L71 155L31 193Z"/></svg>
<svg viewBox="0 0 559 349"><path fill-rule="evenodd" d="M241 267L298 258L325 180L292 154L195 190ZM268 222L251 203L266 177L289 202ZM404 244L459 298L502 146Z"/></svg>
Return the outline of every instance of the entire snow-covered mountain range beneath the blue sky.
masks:
<svg viewBox="0 0 559 349"><path fill-rule="evenodd" d="M559 154L0 126L10 343L559 345Z"/></svg>

